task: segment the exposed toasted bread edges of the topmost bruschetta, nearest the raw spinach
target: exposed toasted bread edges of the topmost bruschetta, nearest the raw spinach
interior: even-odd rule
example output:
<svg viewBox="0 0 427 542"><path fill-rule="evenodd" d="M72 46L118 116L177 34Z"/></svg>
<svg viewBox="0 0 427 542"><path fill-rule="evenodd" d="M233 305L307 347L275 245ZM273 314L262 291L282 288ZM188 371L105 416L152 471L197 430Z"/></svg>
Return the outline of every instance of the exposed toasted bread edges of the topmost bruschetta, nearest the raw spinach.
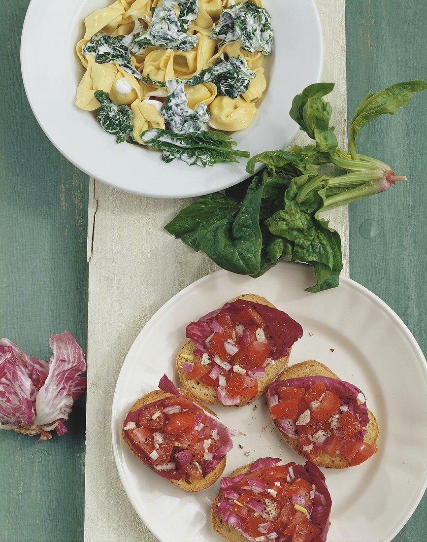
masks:
<svg viewBox="0 0 427 542"><path fill-rule="evenodd" d="M276 308L273 304L271 304L269 301L267 301L266 298L262 298L259 295L256 294L242 294L239 295L237 298L234 298L230 301L232 303L233 301L236 301L237 299L244 299L246 301L252 301L254 303L260 303L261 305L268 305L269 307ZM182 370L182 365L185 363L185 358L182 358L181 356L183 354L187 354L192 356L193 352L195 350L195 344L192 340L188 341L182 349L180 350L176 365L178 369L179 379L181 381L181 384L184 386L184 388L189 392L193 397L196 397L199 401L203 401L203 403L208 404L221 404L218 401L218 397L216 395L216 391L212 386L206 386L199 382L199 380L189 380L187 378L187 373ZM286 369L288 366L289 356L290 356L290 350L288 356L280 359L276 359L274 362L274 365L270 365L266 369L266 374L262 376L260 379L258 379L258 394L256 397L251 398L245 398L242 397L240 404L235 406L245 406L253 403L260 397L268 388L268 386L271 384L271 382L274 382L276 378L280 375L280 373ZM200 358L195 357L196 360L200 360Z"/></svg>

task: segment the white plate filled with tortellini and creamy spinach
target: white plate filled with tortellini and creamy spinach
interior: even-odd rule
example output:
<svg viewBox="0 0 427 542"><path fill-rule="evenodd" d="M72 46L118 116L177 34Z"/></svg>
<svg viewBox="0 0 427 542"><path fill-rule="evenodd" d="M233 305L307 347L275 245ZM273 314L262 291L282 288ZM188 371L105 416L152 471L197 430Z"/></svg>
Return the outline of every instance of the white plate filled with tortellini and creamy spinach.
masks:
<svg viewBox="0 0 427 542"><path fill-rule="evenodd" d="M204 195L296 131L320 80L315 0L31 0L21 66L31 108L73 164L151 197Z"/></svg>

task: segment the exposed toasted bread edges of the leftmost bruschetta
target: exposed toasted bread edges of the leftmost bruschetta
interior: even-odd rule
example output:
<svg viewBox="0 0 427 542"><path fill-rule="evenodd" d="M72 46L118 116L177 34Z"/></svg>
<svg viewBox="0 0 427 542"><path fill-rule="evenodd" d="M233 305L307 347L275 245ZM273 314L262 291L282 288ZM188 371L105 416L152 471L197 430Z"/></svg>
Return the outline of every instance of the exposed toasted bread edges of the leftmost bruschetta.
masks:
<svg viewBox="0 0 427 542"><path fill-rule="evenodd" d="M178 391L180 393L183 393L183 395L185 395L184 390L180 390L178 388ZM141 406L144 406L148 403L154 403L154 401L160 401L160 399L164 399L165 397L170 397L171 395L172 395L171 393L166 393L165 391L161 391L161 390L150 391L150 393L147 393L147 395L144 395L144 397L141 397L140 399L138 399L138 401L132 405L130 411L134 412L135 410L140 409ZM210 410L205 405L200 404L193 397L191 397L191 401L194 401L195 403L197 403L204 410L206 410L206 412L209 412L209 414L211 414L212 416L217 417L214 411ZM127 447L130 448L130 450L132 451L132 453L134 455L137 455L133 451L132 444L130 440L127 438L124 429L121 430L121 436L123 440L126 442ZM215 469L212 470L212 472L209 473L206 476L206 478L203 478L203 480L196 480L192 476L190 476L190 479L188 481L185 480L184 476L180 480L169 480L169 478L166 478L166 480L169 480L171 483L173 483L175 486L180 487L181 489L185 489L185 491L202 491L202 489L206 489L210 487L212 483L215 483L218 480L219 476L221 476L222 473L224 472L226 462L227 462L227 458L224 457L224 459L220 463L217 464ZM150 467L147 466L147 468L150 468Z"/></svg>

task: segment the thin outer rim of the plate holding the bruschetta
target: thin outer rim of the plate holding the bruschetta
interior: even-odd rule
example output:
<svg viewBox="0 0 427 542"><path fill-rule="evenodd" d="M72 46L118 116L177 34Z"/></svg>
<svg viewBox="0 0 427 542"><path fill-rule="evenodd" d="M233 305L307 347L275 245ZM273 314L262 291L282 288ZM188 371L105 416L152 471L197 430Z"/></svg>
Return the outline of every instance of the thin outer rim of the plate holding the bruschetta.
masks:
<svg viewBox="0 0 427 542"><path fill-rule="evenodd" d="M308 267L308 264L301 263L301 262L279 262L279 265L292 265L292 266L305 266L305 267ZM121 366L120 372L119 372L119 376L117 378L117 382L116 382L116 385L115 385L115 388L114 388L114 396L113 396L113 403L112 403L112 409L111 409L111 438L112 438L114 462L115 462L116 468L117 468L118 473L119 473L119 477L120 477L122 487L124 488L125 493L127 495L127 498L130 500L135 512L138 514L139 518L147 526L148 530L150 530L151 533L154 536L156 536L159 540L161 540L161 542L168 542L168 541L159 537L159 534L157 533L156 527L153 525L150 518L146 519L146 518L143 518L141 516L141 514L138 512L137 506L135 505L133 496L131 496L127 492L127 489L126 489L125 480L124 480L124 472L123 472L123 470L121 468L121 463L119 461L119 449L118 449L117 441L116 441L116 438L117 438L118 435L117 435L117 432L115 430L115 422L116 422L117 418L114 417L115 410L117 410L117 405L118 405L118 401L119 401L118 393L117 393L118 383L119 383L120 378L122 377L122 373L125 372L124 368L125 368L125 365L127 363L127 360L132 356L133 350L135 350L137 348L137 345L138 345L139 341L141 340L141 336L143 336L143 334L145 335L145 333L148 333L150 331L151 327L154 324L156 324L157 319L161 316L161 315L159 315L159 313L160 312L163 313L163 310L167 309L167 307L170 304L172 304L172 302L174 300L176 300L176 298L180 298L181 296L185 296L186 291L189 290L191 287L193 287L196 283L199 284L199 283L206 282L206 281L208 281L210 279L210 277L212 275L218 275L218 274L221 274L221 275L225 276L225 275L229 274L229 272L224 270L224 269L219 269L219 270L215 271L214 273L210 273L209 275L205 275L202 278L200 278L200 279L192 282L191 284L187 285L185 288L183 288L182 290L177 292L175 295L173 295L169 300L167 300L161 307L159 307L159 309L151 316L151 318L147 321L145 326L138 333L137 337L135 337L135 339L134 339L134 341L132 343L132 346L130 347L130 349L128 350L128 352L126 354L124 362L122 363L122 366ZM427 360L426 360L426 358L424 356L423 351L421 350L421 347L417 343L417 340L413 336L413 334L410 331L409 327L407 327L405 322L402 320L402 318L400 318L399 315L389 305L387 305L386 302L383 301L377 294L371 292L370 289L368 289L365 286L361 285L359 282L356 282L355 280L351 279L350 277L341 275L340 276L340 284L341 283L344 283L347 287L349 287L353 291L355 291L358 294L360 294L360 295L364 296L365 298L369 299L374 304L377 304L378 307L381 308L381 310L384 313L386 313L387 315L389 315L389 317L391 319L396 321L396 324L404 332L404 335L405 335L409 345L414 350L414 353L418 354L416 356L417 357L417 362L418 362L418 364L420 366L421 371L423 372L424 381L425 381L425 385L426 385L426 389L427 389ZM413 497L413 499L411 501L411 505L406 509L406 514L405 514L404 518L402 519L402 522L399 525L397 525L394 528L393 531L391 531L389 533L390 538L387 539L387 542L392 542L393 538L396 537L396 535L403 529L403 527L407 524L409 519L412 517L412 515L415 512L415 510L416 510L417 506L419 505L420 501L422 500L422 498L424 496L424 493L425 493L425 491L427 489L427 471L425 471L423 473L422 478L420 479L420 482L421 483L418 486L417 493L414 495L414 497Z"/></svg>

